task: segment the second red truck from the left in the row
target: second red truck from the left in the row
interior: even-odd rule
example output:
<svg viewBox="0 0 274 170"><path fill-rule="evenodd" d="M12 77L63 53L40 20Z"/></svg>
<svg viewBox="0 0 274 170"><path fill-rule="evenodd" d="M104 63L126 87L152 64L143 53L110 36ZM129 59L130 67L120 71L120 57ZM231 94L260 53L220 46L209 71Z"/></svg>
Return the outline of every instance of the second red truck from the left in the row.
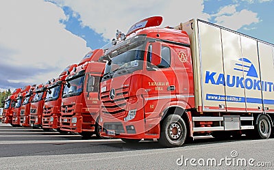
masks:
<svg viewBox="0 0 274 170"><path fill-rule="evenodd" d="M16 96L16 103L14 105L14 111L12 115L12 125L13 126L20 126L20 119L21 119L21 105L23 98L26 96L27 91L31 88L31 85L26 85L21 92Z"/></svg>

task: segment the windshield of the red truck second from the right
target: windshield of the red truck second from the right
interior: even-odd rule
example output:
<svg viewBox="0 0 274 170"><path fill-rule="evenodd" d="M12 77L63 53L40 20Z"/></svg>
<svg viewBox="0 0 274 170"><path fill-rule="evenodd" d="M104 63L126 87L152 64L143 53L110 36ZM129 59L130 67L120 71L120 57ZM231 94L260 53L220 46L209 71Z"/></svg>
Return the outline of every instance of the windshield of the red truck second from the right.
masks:
<svg viewBox="0 0 274 170"><path fill-rule="evenodd" d="M77 96L82 93L83 85L84 85L84 75L79 76L76 79L71 79L67 81L68 85L65 85L63 91L63 98L67 98L69 96Z"/></svg>

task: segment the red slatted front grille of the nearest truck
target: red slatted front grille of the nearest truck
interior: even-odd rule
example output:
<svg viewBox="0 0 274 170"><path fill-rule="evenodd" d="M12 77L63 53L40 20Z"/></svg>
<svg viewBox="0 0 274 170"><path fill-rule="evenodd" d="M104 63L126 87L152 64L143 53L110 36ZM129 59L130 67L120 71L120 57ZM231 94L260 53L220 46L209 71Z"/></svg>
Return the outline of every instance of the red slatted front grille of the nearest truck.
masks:
<svg viewBox="0 0 274 170"><path fill-rule="evenodd" d="M127 107L129 87L115 89L114 100L110 99L110 91L101 93L101 100L103 106L101 107L102 113L115 115L116 117L125 114Z"/></svg>

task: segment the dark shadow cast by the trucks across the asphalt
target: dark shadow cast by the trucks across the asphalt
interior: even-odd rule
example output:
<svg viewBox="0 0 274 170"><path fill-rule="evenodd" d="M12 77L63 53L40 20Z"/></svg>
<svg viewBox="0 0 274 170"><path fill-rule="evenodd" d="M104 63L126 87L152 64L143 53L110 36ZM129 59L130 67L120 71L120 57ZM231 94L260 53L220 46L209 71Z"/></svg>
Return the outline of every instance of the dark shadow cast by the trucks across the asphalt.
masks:
<svg viewBox="0 0 274 170"><path fill-rule="evenodd" d="M5 129L8 129L5 131ZM20 129L20 130L18 130ZM157 141L141 141L140 143L124 143L123 141L112 141L111 139L97 139L97 137L90 137L91 140L82 141L79 134L60 134L59 132L45 132L40 129L32 130L24 128L3 128L0 127L0 141L14 141L13 144L7 143L0 145L0 157L8 156L45 156L45 155L63 155L63 154L92 154L104 152L125 152L135 150L159 150L163 149L162 145ZM13 137L12 130L22 137ZM17 131L16 131L17 130ZM34 133L32 133L34 132ZM27 137L27 134L32 137ZM8 135L2 136L1 135ZM37 137L36 137L37 135ZM245 136L239 139L220 140L213 137L195 139L191 143L185 143L184 146L206 145L214 143L229 143L235 141L250 141ZM16 142L23 141L23 143ZM27 142L25 142L27 141ZM41 142L34 142L41 141ZM47 142L45 142L47 141ZM55 142L56 141L56 142ZM75 141L75 142L74 142Z"/></svg>

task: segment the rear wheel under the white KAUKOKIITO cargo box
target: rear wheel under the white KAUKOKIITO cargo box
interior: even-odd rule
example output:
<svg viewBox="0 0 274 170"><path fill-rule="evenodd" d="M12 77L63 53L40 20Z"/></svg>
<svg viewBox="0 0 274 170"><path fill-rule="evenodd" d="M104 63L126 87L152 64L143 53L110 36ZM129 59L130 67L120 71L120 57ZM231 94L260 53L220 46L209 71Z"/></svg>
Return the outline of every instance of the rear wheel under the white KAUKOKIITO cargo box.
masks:
<svg viewBox="0 0 274 170"><path fill-rule="evenodd" d="M271 135L271 123L269 117L260 115L258 124L256 125L256 132L260 139L268 139Z"/></svg>

